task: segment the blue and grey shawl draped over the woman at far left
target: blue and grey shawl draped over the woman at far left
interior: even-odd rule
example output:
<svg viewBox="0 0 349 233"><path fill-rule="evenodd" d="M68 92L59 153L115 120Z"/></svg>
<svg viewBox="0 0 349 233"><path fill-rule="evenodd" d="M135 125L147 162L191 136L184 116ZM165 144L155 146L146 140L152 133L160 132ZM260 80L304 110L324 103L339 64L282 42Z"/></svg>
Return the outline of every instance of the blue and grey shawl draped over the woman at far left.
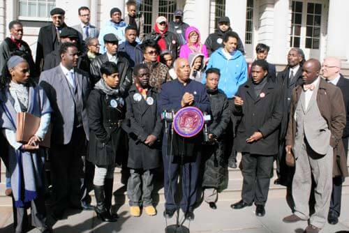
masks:
<svg viewBox="0 0 349 233"><path fill-rule="evenodd" d="M16 129L16 114L15 106L11 101L10 91L7 89L2 97L0 105L0 115L2 119L1 128L9 130ZM40 87L29 87L28 91L28 110L27 112L40 117L43 114L52 112L50 102L45 96L43 89ZM45 156L43 149L38 151L22 151L15 149L12 146L8 150L9 161L8 170L11 174L11 188L13 190L13 198L15 199L16 207L24 207L27 202L35 200L38 196L38 188L43 188L43 165Z"/></svg>

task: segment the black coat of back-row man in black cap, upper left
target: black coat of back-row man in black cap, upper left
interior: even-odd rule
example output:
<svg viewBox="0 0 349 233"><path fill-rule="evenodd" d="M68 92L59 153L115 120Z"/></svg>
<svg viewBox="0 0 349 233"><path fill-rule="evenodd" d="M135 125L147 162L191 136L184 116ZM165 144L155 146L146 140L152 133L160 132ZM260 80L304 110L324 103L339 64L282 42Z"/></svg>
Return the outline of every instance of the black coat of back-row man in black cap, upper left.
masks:
<svg viewBox="0 0 349 233"><path fill-rule="evenodd" d="M68 26L64 24L62 29L64 27ZM38 43L36 45L36 72L40 73L40 71L42 70L43 59L46 57L46 55L52 52L53 50L56 50L58 47L59 43L57 40L57 32L56 27L54 27L54 24L50 23L45 27L41 27L38 35Z"/></svg>

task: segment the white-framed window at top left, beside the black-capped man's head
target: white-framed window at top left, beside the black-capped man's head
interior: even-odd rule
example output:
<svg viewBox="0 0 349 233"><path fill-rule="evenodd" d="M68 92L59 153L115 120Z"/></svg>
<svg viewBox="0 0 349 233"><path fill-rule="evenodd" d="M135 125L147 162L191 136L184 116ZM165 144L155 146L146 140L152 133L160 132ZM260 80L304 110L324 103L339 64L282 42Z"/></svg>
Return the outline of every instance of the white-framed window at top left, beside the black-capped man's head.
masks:
<svg viewBox="0 0 349 233"><path fill-rule="evenodd" d="M56 6L56 0L19 0L18 3L20 20L50 19L50 10Z"/></svg>

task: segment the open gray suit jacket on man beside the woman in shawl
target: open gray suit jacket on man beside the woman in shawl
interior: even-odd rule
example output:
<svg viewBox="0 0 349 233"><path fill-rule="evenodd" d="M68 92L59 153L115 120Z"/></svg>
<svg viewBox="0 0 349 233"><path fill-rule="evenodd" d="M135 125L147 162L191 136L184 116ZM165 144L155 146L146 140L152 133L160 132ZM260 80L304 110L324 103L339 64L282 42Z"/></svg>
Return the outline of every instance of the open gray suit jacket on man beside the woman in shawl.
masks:
<svg viewBox="0 0 349 233"><path fill-rule="evenodd" d="M89 140L89 125L87 117L87 98L89 97L90 84L89 75L83 70L75 68L75 82L77 93L82 95L82 124ZM61 66L45 70L40 75L39 85L43 87L47 98L49 98L52 114L51 123L53 126L51 139L55 144L68 144L74 128L75 105L73 95L68 87L66 75Z"/></svg>

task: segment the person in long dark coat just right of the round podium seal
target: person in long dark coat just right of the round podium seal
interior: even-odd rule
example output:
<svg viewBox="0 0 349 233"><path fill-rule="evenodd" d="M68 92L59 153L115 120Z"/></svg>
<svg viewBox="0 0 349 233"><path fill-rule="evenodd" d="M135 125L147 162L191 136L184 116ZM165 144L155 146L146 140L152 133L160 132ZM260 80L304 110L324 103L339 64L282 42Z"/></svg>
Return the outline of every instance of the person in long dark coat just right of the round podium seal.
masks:
<svg viewBox="0 0 349 233"><path fill-rule="evenodd" d="M209 142L202 151L205 159L205 172L202 180L204 200L212 209L216 209L218 192L228 185L227 137L225 130L230 121L228 98L218 90L221 73L217 68L206 70L206 91L211 103L211 121L209 122Z"/></svg>

